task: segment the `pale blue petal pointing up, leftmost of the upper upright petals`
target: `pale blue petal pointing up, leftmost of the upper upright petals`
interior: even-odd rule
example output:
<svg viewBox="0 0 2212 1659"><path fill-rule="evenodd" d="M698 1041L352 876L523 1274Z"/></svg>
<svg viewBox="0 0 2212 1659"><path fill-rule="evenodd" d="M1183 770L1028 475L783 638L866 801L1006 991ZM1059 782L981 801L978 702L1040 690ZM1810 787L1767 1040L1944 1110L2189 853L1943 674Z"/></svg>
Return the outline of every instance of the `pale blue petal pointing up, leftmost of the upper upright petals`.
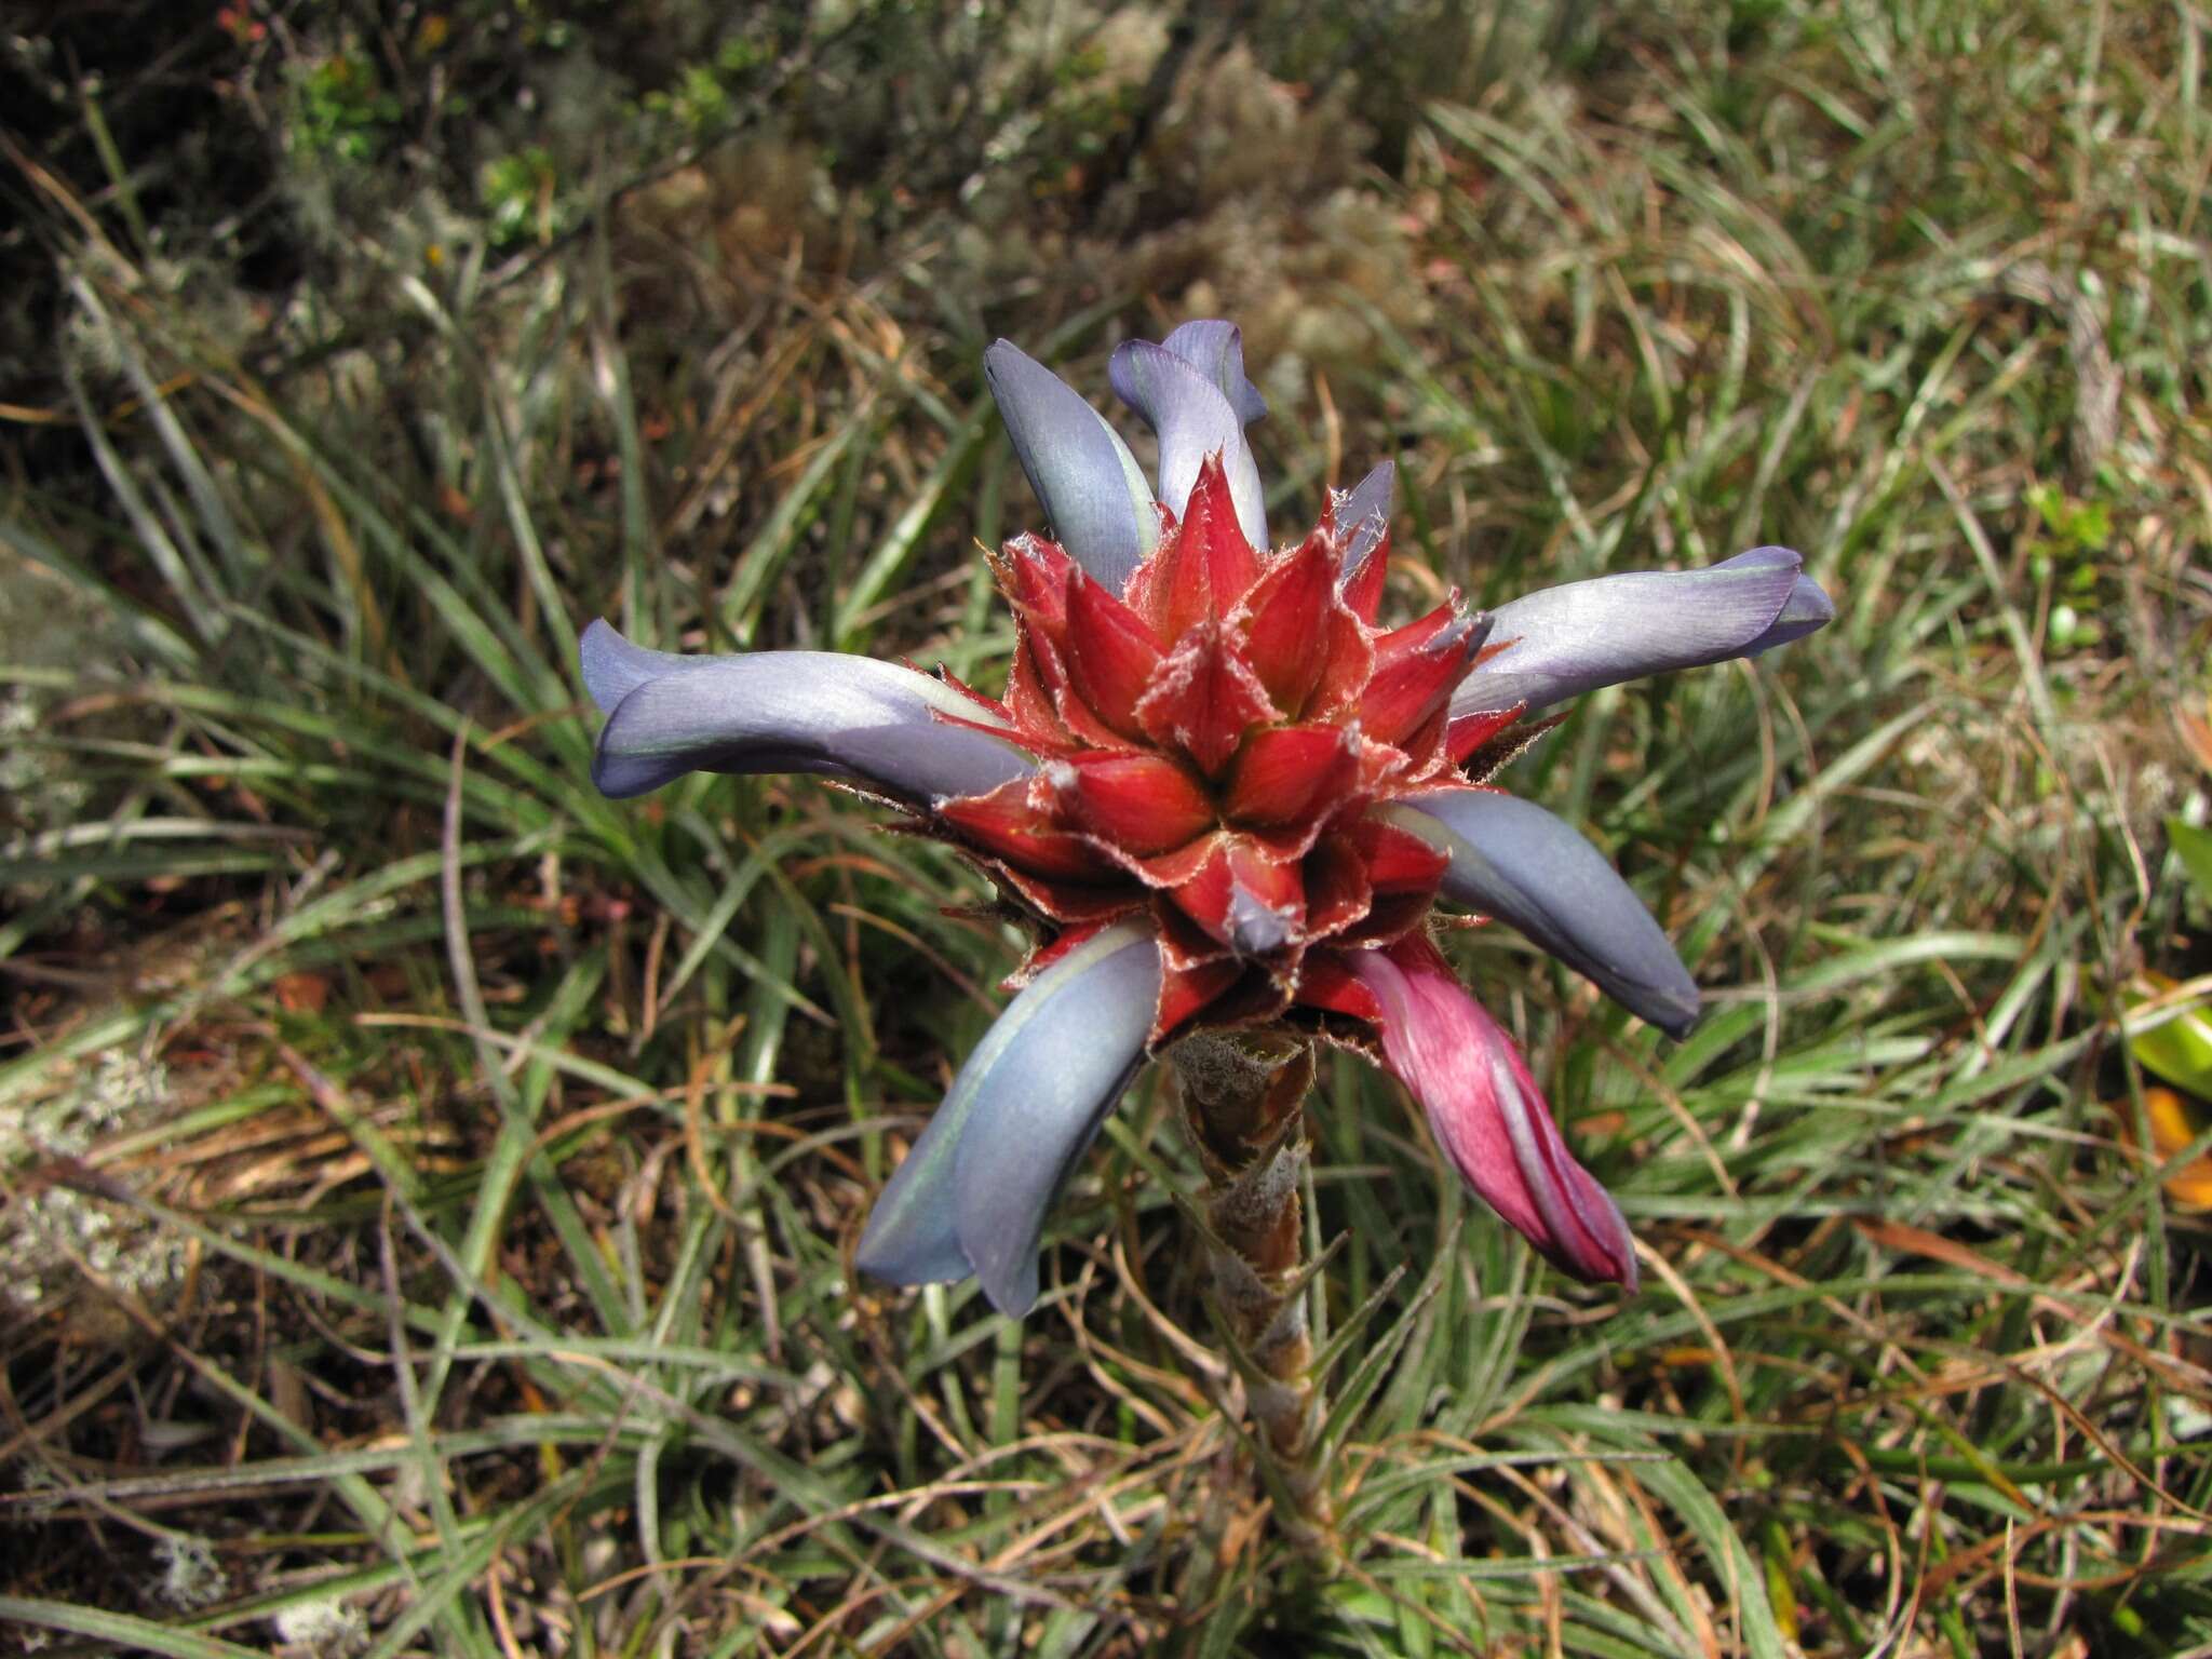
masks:
<svg viewBox="0 0 2212 1659"><path fill-rule="evenodd" d="M982 354L982 378L1053 535L1119 593L1159 542L1159 513L1137 458L1075 387L1013 341L998 341Z"/></svg>

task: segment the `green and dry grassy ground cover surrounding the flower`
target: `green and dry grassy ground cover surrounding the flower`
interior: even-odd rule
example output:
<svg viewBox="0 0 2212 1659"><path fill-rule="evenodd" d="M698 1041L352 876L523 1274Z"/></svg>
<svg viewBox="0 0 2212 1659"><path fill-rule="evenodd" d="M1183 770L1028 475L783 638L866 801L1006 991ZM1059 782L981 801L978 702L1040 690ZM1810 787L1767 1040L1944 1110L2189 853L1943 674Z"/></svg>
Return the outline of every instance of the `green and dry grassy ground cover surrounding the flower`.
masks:
<svg viewBox="0 0 2212 1659"><path fill-rule="evenodd" d="M9 46L0 1650L2212 1652L2203 18L613 11ZM602 801L573 668L995 684L982 345L1199 312L1279 522L1398 456L1396 615L1840 608L1509 774L1688 1042L1451 940L1639 1296L1325 1066L1321 1555L1166 1086L1026 1323L856 1281L1013 938L816 783Z"/></svg>

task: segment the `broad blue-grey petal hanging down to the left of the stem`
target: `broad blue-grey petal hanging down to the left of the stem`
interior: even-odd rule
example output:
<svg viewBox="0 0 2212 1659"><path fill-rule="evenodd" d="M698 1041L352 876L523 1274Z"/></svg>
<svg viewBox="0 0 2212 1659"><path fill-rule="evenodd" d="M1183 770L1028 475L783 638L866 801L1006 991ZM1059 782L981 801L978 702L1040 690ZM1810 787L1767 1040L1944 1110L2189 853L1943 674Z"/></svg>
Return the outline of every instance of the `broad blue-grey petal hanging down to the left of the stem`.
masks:
<svg viewBox="0 0 2212 1659"><path fill-rule="evenodd" d="M894 1285L975 1272L993 1307L1026 1314L1044 1212L1141 1064L1157 1004L1159 940L1139 922L1031 980L891 1175L858 1267Z"/></svg>

